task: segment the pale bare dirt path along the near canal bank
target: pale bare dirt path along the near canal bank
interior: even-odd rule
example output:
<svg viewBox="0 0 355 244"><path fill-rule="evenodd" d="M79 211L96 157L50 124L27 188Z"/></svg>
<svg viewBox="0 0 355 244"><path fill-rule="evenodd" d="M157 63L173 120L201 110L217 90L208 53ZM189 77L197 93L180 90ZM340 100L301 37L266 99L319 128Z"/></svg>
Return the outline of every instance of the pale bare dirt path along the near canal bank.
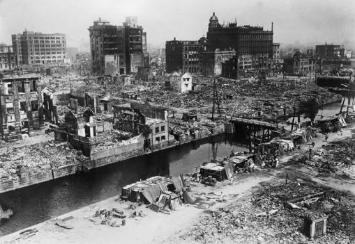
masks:
<svg viewBox="0 0 355 244"><path fill-rule="evenodd" d="M249 193L256 188L260 182L268 181L270 176L262 174L246 174L237 179L233 186L227 181L219 182L216 187L204 186L202 184L192 184L192 195L200 199L197 206L184 205L177 211L172 211L169 215L156 213L145 206L140 206L137 211L144 211L145 216L139 220L128 218L125 227L108 227L99 225L89 220L96 209L116 207L129 215L127 204L119 204L110 198L97 204L86 206L77 211L66 213L58 219L73 216L69 220L73 229L63 229L55 225L55 220L35 225L38 233L28 239L15 240L19 237L20 231L0 238L0 243L163 243L162 240L173 236L179 231L192 225L198 220L205 209L217 209L235 202L245 193ZM33 227L31 227L33 228ZM29 228L29 229L31 229Z"/></svg>

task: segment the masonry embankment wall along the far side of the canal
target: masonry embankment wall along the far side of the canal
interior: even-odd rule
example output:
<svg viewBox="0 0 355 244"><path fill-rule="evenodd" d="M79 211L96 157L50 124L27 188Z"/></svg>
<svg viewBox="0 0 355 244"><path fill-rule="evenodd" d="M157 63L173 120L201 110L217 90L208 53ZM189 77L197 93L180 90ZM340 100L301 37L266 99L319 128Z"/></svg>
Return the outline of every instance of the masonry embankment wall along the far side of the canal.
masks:
<svg viewBox="0 0 355 244"><path fill-rule="evenodd" d="M211 131L195 131L195 136L185 136L181 138L180 142L176 142L173 138L158 145L151 147L151 152L157 152L170 147L176 147L192 141L202 140L211 136L216 136L225 132L224 125L215 127ZM130 145L123 145L121 147L112 147L97 152L93 152L90 156L91 160L87 162L80 162L77 164L63 165L58 168L53 168L51 165L41 165L35 168L22 168L20 170L20 177L16 179L2 179L0 184L0 193L5 193L10 190L32 186L52 179L66 177L70 174L75 174L78 169L84 166L87 170L99 168L112 163L118 163L130 158L142 156L146 154L143 149L143 142L133 143Z"/></svg>

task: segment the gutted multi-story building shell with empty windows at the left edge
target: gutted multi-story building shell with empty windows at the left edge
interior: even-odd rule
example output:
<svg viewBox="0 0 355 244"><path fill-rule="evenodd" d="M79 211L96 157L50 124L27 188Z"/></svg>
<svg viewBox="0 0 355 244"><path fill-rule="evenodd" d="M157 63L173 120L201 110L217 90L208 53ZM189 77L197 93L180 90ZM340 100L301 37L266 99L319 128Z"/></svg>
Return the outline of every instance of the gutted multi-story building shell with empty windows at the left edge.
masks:
<svg viewBox="0 0 355 244"><path fill-rule="evenodd" d="M5 76L0 79L0 136L6 141L44 129L43 97L38 76Z"/></svg>

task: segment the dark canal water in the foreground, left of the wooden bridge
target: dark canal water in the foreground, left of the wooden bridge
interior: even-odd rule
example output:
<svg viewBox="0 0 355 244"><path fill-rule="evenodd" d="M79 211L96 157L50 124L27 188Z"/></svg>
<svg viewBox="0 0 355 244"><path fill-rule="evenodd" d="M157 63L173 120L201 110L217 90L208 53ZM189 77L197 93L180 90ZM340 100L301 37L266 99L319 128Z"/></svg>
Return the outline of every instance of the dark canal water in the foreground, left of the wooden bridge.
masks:
<svg viewBox="0 0 355 244"><path fill-rule="evenodd" d="M0 235L10 234L55 216L93 204L121 191L122 186L155 175L190 173L213 156L227 156L246 147L231 143L227 136L202 140L163 152L22 188L0 195L1 203L15 214L0 226Z"/></svg>

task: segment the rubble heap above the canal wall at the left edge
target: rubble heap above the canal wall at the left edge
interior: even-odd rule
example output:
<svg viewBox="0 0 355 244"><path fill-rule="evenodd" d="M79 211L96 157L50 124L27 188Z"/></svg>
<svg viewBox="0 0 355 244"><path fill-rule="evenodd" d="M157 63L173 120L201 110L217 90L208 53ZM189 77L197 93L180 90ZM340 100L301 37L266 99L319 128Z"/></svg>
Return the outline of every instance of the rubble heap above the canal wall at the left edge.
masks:
<svg viewBox="0 0 355 244"><path fill-rule="evenodd" d="M17 170L22 167L34 168L50 165L57 168L86 160L81 151L73 149L68 143L56 143L54 140L36 145L14 147L0 155L0 179L17 178Z"/></svg>

